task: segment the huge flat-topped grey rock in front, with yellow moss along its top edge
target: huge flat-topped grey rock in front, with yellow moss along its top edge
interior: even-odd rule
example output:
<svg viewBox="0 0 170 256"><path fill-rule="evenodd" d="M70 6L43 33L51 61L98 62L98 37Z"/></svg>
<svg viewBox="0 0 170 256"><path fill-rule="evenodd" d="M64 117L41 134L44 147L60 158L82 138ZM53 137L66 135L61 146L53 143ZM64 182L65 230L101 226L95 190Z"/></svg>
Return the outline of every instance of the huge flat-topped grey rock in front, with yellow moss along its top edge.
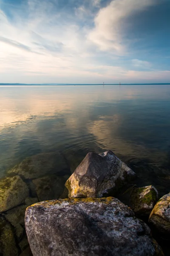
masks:
<svg viewBox="0 0 170 256"><path fill-rule="evenodd" d="M26 209L34 256L161 256L149 227L116 198L59 199Z"/></svg>

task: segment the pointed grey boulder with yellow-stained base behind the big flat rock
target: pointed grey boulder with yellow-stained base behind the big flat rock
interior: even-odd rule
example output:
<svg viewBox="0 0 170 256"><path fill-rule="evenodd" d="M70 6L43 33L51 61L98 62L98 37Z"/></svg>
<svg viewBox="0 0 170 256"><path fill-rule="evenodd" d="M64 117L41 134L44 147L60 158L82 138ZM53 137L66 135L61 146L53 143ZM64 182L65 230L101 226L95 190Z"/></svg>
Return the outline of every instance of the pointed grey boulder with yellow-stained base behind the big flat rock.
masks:
<svg viewBox="0 0 170 256"><path fill-rule="evenodd" d="M69 198L88 198L115 195L135 173L112 151L90 152L79 164L65 186Z"/></svg>

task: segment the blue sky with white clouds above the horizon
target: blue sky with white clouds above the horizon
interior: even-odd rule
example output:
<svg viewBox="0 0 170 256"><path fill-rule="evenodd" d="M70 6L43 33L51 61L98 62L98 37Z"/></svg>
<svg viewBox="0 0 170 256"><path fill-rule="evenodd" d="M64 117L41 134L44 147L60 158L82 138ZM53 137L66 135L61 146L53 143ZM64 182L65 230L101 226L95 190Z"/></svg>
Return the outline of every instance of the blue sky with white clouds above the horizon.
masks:
<svg viewBox="0 0 170 256"><path fill-rule="evenodd" d="M170 0L0 0L0 83L170 83Z"/></svg>

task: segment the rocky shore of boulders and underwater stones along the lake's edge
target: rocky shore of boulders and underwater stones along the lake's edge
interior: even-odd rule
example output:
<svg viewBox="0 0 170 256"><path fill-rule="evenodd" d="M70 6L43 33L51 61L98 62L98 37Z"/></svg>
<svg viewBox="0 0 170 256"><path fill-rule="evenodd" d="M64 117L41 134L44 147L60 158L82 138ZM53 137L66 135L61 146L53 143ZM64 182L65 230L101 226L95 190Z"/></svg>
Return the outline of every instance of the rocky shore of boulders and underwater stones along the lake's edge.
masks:
<svg viewBox="0 0 170 256"><path fill-rule="evenodd" d="M71 161L38 154L0 179L0 255L163 256L170 193L159 199L154 186L136 187L112 151L89 152L75 170ZM117 199L123 191L127 205Z"/></svg>

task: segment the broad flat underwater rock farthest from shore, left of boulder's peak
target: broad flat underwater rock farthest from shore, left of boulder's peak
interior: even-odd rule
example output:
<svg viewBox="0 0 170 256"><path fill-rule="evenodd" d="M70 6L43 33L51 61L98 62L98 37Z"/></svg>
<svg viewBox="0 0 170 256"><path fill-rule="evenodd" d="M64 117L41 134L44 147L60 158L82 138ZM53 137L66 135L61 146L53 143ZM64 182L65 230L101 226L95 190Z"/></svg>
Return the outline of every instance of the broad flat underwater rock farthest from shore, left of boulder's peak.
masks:
<svg viewBox="0 0 170 256"><path fill-rule="evenodd" d="M18 174L25 179L35 179L54 173L65 175L68 172L69 167L62 154L52 152L27 157L19 165L9 170L8 174Z"/></svg>

